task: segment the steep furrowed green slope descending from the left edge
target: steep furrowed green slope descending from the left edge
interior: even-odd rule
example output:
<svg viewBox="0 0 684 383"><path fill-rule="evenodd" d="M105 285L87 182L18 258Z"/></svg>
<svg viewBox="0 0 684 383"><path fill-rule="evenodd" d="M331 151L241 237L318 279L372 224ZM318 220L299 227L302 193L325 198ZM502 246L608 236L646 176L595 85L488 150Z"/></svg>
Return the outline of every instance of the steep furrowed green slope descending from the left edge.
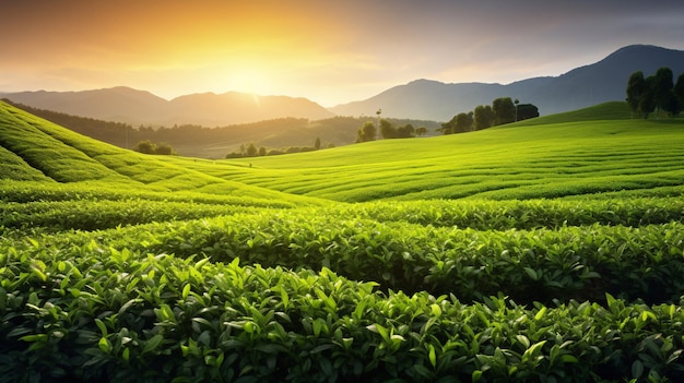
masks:
<svg viewBox="0 0 684 383"><path fill-rule="evenodd" d="M248 195L249 200L266 204L268 201L305 203L302 198L220 179L85 137L2 101L0 156L9 164L2 171L2 178L9 180L85 183L90 188L150 193Z"/></svg>

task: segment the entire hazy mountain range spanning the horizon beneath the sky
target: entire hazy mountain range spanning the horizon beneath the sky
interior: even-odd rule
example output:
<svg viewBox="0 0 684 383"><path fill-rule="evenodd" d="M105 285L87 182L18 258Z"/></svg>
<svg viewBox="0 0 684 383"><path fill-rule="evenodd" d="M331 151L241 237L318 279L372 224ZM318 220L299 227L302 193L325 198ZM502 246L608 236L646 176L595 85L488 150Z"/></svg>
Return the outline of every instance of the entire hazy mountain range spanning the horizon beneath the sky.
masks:
<svg viewBox="0 0 684 383"><path fill-rule="evenodd" d="M318 120L338 116L373 116L448 121L477 105L490 105L498 97L534 104L540 113L551 115L610 100L624 100L629 75L653 74L669 67L675 76L684 72L684 51L634 45L618 49L605 59L577 68L559 76L533 77L511 84L445 84L416 80L387 89L365 100L330 109L287 96L257 96L228 92L180 96L172 100L129 87L84 92L22 92L0 94L15 103L70 115L137 124L173 125L193 123L228 125L281 117ZM675 79L676 80L676 79Z"/></svg>

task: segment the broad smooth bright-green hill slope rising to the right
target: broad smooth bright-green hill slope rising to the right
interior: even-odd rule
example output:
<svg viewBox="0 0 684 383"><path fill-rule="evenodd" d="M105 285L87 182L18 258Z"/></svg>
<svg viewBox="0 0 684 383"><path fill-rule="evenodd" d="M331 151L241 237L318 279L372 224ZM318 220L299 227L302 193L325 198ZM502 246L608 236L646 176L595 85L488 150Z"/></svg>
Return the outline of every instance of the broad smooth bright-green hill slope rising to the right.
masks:
<svg viewBox="0 0 684 383"><path fill-rule="evenodd" d="M219 166L168 161L261 188L347 202L679 194L683 129L679 119L632 120L624 103L611 103L465 134L384 140Z"/></svg>

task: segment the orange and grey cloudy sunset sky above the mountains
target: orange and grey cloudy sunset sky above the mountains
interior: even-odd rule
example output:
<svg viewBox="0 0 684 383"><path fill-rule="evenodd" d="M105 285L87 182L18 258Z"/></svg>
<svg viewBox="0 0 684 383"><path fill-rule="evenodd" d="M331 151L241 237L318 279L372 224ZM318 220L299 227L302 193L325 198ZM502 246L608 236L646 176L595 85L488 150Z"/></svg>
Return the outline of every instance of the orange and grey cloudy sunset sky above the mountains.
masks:
<svg viewBox="0 0 684 383"><path fill-rule="evenodd" d="M633 44L684 50L681 0L0 0L0 93L130 86L331 107L418 79L508 84Z"/></svg>

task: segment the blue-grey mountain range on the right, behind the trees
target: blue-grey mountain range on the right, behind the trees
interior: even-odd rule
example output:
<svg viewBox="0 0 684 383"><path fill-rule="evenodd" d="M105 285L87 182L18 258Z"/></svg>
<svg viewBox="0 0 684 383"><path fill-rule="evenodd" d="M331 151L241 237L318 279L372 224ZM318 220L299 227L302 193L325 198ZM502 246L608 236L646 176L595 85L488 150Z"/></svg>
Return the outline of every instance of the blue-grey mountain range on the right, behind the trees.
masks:
<svg viewBox="0 0 684 383"><path fill-rule="evenodd" d="M656 46L633 45L616 50L605 59L571 70L556 77L533 77L507 85L484 83L445 84L417 80L387 89L366 100L330 108L340 116L411 117L447 121L477 105L491 105L498 97L511 97L534 104L541 115L575 110L600 103L624 100L629 75L642 71L646 76L661 67L675 75L684 72L684 51Z"/></svg>

